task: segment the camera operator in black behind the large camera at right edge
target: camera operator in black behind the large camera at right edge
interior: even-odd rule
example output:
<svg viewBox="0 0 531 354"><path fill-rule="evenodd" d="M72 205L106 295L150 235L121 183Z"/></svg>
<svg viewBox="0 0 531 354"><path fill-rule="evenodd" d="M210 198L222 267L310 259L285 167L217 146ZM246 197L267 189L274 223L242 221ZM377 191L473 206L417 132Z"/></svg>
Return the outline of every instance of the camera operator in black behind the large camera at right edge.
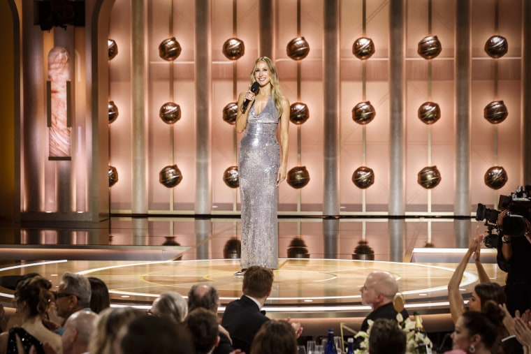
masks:
<svg viewBox="0 0 531 354"><path fill-rule="evenodd" d="M531 309L531 223L525 219L526 229L522 236L511 237L503 233L503 219L507 209L500 212L497 224L500 226L500 238L497 242L497 264L507 272L505 295L507 309L514 316L516 310L521 314Z"/></svg>

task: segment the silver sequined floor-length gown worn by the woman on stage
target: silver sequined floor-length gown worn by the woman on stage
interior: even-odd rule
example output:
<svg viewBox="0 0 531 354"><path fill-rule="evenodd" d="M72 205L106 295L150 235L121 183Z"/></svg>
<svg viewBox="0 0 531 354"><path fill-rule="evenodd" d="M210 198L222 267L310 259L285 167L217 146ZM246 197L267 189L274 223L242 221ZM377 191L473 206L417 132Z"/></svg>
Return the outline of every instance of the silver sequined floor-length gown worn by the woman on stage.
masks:
<svg viewBox="0 0 531 354"><path fill-rule="evenodd" d="M279 116L271 96L259 115L249 108L240 140L238 173L242 203L242 268L278 268L277 175Z"/></svg>

